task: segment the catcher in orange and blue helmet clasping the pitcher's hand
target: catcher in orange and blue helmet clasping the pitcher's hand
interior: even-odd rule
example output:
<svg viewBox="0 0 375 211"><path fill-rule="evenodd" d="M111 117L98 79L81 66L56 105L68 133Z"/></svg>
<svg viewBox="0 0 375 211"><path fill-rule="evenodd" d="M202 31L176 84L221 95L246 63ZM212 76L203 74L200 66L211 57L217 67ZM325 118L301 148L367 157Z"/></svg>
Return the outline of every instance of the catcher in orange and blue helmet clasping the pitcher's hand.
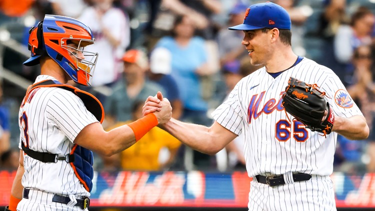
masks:
<svg viewBox="0 0 375 211"><path fill-rule="evenodd" d="M19 107L19 166L5 210L87 210L93 182L93 152L110 156L128 148L172 107L105 131L104 111L92 94L66 84L91 84L97 53L91 29L65 16L45 15L29 30L31 56L23 64L40 64L40 75Z"/></svg>

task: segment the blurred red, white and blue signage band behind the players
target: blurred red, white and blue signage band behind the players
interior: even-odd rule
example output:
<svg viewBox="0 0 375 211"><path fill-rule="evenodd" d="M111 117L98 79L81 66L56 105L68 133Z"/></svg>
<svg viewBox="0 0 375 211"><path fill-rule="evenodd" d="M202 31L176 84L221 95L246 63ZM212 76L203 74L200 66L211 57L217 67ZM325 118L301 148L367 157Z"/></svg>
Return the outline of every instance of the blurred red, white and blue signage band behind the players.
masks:
<svg viewBox="0 0 375 211"><path fill-rule="evenodd" d="M95 172L91 206L246 207L246 172ZM15 171L0 171L0 206L9 201ZM334 172L337 207L375 207L375 174Z"/></svg>

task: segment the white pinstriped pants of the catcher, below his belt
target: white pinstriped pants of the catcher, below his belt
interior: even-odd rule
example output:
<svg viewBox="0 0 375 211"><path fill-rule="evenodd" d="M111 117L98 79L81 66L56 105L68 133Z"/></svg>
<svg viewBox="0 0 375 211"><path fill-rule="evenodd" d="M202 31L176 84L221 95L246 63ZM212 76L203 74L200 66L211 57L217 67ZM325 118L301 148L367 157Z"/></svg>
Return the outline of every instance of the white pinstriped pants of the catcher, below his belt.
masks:
<svg viewBox="0 0 375 211"><path fill-rule="evenodd" d="M67 206L64 203L53 202L54 193L30 189L28 199L22 198L17 205L18 211L81 211L79 206ZM86 209L87 210L87 209Z"/></svg>

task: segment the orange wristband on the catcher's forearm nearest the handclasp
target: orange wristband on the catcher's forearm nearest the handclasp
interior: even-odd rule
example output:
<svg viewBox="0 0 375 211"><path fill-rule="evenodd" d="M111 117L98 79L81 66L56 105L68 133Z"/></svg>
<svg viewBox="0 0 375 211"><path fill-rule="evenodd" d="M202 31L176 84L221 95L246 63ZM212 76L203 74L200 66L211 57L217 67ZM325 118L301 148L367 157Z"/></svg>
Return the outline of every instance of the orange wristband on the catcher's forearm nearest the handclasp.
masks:
<svg viewBox="0 0 375 211"><path fill-rule="evenodd" d="M135 120L127 125L133 130L135 140L138 141L145 135L152 127L158 124L155 114L149 113L138 120Z"/></svg>

